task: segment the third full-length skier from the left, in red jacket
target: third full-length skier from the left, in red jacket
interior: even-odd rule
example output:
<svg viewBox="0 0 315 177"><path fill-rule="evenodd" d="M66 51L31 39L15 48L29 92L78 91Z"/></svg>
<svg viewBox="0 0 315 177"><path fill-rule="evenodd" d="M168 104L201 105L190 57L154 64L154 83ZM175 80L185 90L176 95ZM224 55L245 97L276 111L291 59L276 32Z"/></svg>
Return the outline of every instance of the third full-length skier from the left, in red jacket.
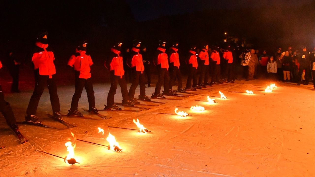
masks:
<svg viewBox="0 0 315 177"><path fill-rule="evenodd" d="M105 61L105 67L110 70L111 88L107 95L107 105L105 109L117 110L119 107L114 102L114 96L117 90L117 84L121 88L123 104L134 106L129 100L127 83L125 80L125 71L123 70L123 57L121 56L121 46L123 43L118 42L111 48L109 59Z"/></svg>

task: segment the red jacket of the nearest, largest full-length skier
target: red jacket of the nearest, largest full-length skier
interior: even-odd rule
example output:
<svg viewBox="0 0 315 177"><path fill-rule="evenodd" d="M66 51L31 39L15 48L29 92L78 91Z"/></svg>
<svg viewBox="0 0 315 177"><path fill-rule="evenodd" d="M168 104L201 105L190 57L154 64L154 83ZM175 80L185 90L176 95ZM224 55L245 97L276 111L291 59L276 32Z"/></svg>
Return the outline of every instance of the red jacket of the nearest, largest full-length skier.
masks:
<svg viewBox="0 0 315 177"><path fill-rule="evenodd" d="M48 48L48 44L36 42L35 45L37 48L35 49L32 57L34 69L39 69L39 75L49 76L49 78L52 78L52 75L56 74L54 53L50 48Z"/></svg>

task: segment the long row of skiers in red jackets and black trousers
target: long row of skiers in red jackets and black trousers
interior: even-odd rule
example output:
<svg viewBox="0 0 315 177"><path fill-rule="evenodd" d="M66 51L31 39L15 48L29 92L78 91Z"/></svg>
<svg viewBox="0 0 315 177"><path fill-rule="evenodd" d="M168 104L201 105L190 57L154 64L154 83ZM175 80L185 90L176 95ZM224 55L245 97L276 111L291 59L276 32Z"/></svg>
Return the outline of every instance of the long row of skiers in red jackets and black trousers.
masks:
<svg viewBox="0 0 315 177"><path fill-rule="evenodd" d="M78 111L78 101L81 97L83 88L87 92L89 111L98 114L97 108L95 107L95 96L93 90L93 84L91 80L91 68L93 61L91 56L87 53L87 41L80 43L75 49L74 54L71 55L68 66L72 67L75 75L75 93L72 96L72 102L68 115L83 116ZM122 104L127 106L134 106L137 103L135 99L135 89L140 85L139 100L150 101L150 98L146 96L145 87L145 65L147 62L143 60L140 51L141 42L139 40L133 41L133 47L130 52L130 57L123 59L121 54L122 42L117 42L111 48L111 54L105 61L104 66L110 70L110 81L111 87L107 95L107 103L105 109L119 109L114 102L114 95L116 94L117 84L121 87L121 94L123 97ZM160 40L158 43L157 50L153 57L153 64L157 67L158 81L155 87L154 93L151 98L165 98L165 95L174 95L176 91L173 90L175 80L178 81L177 92L186 92L186 90L195 90L196 88L212 86L213 83L222 83L220 81L220 55L218 47L213 46L212 51L209 52L209 45L203 45L203 49L197 53L197 47L192 46L188 51L188 57L185 63L189 67L188 78L186 87L182 85L182 77L180 73L180 58L178 53L179 43L173 43L170 50L169 56L166 53L166 41ZM228 76L228 82L232 81L232 64L233 58L229 47L223 54L224 59L227 61L226 75ZM48 32L45 31L40 33L35 43L35 48L32 55L32 63L34 66L35 76L35 88L29 104L26 110L25 120L30 123L41 123L39 118L36 116L38 103L45 85L49 89L50 102L52 106L53 116L58 120L62 120L62 114L60 113L60 101L57 94L57 85L55 82L56 69L54 65L54 52L48 44ZM198 60L200 60L198 62ZM124 61L126 65L132 70L132 84L127 89ZM211 82L209 82L209 66L212 64L213 75ZM200 67L200 77L197 79L197 69ZM192 82L192 83L191 83ZM161 93L162 84L164 89ZM1 87L0 87L1 89ZM18 127L15 122L15 117L9 106L9 103L4 101L3 92L0 90L0 104L1 112L3 112L9 126L16 131Z"/></svg>

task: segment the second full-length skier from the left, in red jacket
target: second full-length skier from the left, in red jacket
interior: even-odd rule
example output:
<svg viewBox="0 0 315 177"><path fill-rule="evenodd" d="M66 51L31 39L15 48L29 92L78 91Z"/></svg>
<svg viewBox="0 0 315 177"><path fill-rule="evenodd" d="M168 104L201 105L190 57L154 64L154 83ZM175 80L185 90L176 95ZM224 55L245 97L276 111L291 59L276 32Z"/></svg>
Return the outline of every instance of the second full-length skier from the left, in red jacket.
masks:
<svg viewBox="0 0 315 177"><path fill-rule="evenodd" d="M73 67L75 74L75 93L72 96L71 108L68 115L83 116L83 114L78 111L78 102L81 98L83 87L85 87L88 95L89 111L98 114L95 108L95 97L90 73L90 66L93 65L93 61L91 56L86 52L87 44L87 41L81 43L68 61L68 65Z"/></svg>

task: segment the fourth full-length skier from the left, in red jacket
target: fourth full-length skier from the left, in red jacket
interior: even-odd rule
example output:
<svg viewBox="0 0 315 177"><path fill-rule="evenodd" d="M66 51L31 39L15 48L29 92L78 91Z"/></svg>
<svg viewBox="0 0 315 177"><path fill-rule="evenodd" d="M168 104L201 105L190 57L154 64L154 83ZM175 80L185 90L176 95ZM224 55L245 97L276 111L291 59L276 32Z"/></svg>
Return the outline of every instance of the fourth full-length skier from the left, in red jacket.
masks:
<svg viewBox="0 0 315 177"><path fill-rule="evenodd" d="M134 98L135 97L135 89L140 85L140 100L150 100L148 96L146 96L146 83L144 77L144 65L142 54L140 53L140 45L141 42L139 40L133 41L133 47L131 49L131 57L127 61L127 65L132 69L133 78L132 84L129 88L129 100L133 103L137 103L138 101Z"/></svg>

